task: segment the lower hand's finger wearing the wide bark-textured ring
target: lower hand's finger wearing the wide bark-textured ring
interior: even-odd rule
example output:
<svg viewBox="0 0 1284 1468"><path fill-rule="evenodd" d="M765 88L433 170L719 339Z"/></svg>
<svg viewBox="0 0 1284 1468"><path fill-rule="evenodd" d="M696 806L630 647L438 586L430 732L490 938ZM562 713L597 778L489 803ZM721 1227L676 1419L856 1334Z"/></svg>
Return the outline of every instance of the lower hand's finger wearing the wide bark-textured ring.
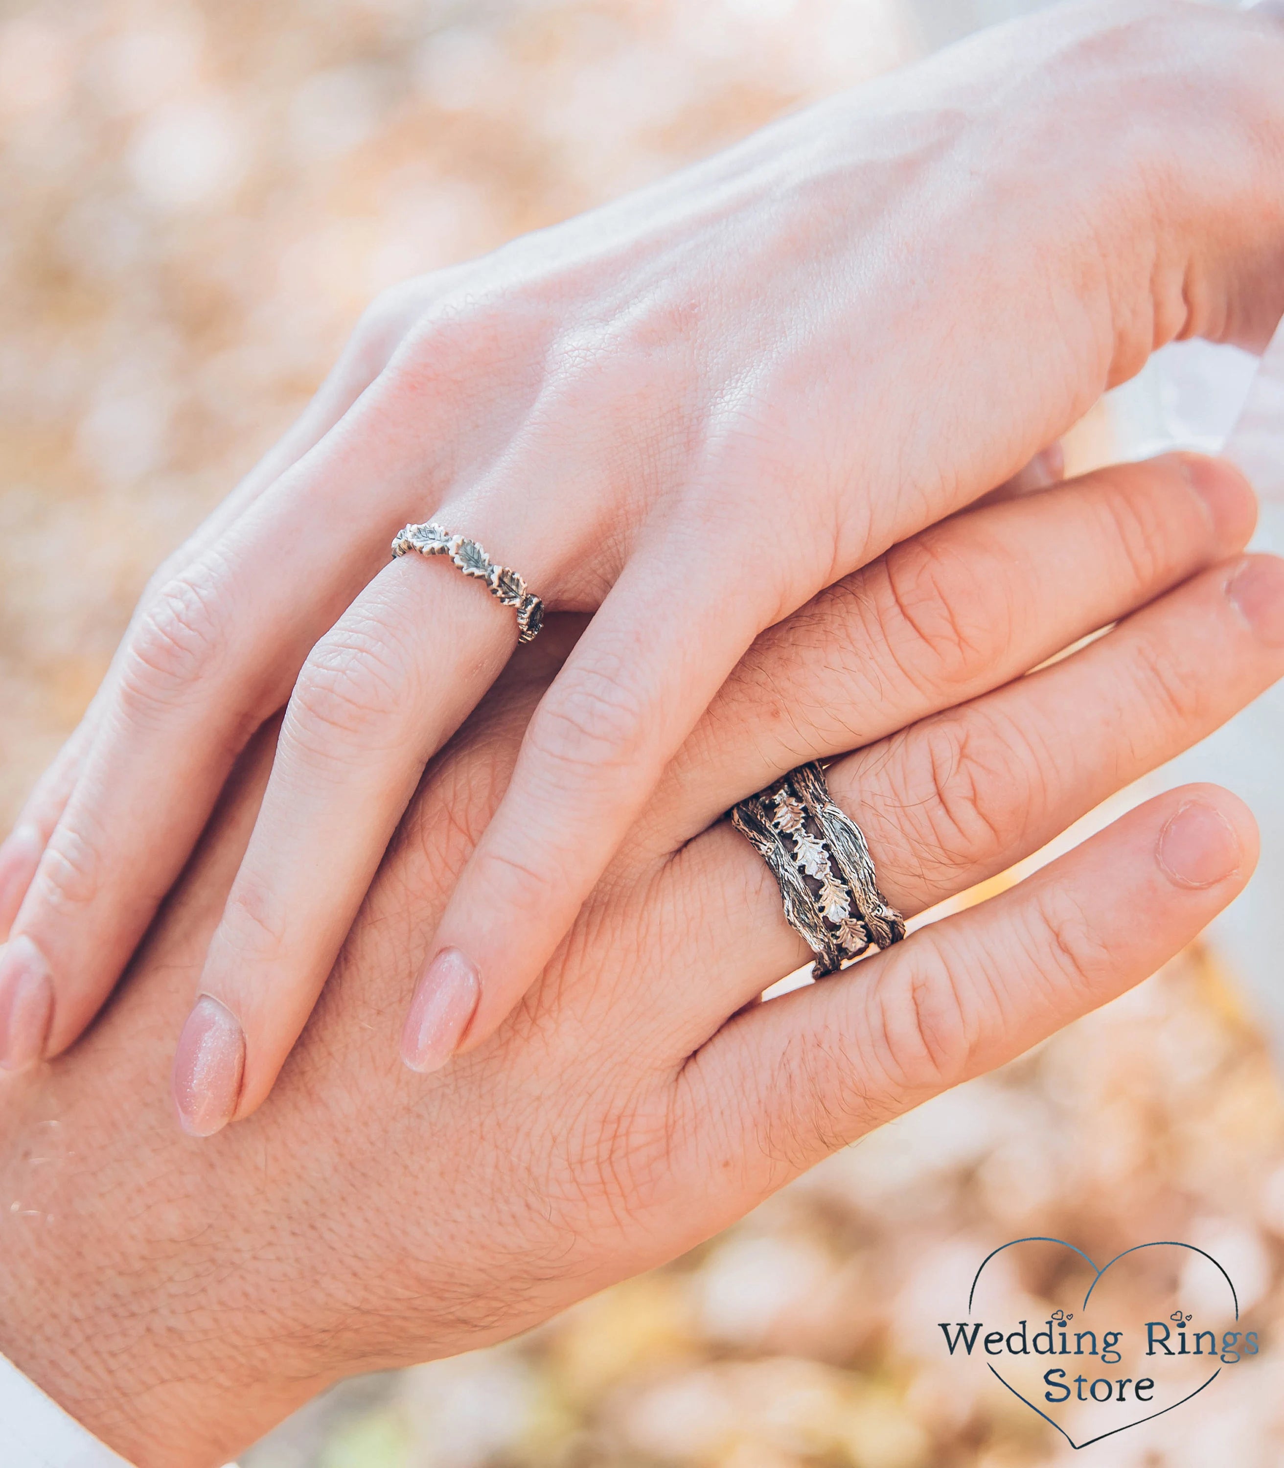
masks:
<svg viewBox="0 0 1284 1468"><path fill-rule="evenodd" d="M914 916L1039 850L1281 674L1284 561L1243 558L1073 656L850 755L829 787L869 838L888 900ZM701 970L698 992L715 1028L806 962L766 865L728 822L668 875L672 904L710 915L718 975ZM675 982L690 1004L691 976Z"/></svg>

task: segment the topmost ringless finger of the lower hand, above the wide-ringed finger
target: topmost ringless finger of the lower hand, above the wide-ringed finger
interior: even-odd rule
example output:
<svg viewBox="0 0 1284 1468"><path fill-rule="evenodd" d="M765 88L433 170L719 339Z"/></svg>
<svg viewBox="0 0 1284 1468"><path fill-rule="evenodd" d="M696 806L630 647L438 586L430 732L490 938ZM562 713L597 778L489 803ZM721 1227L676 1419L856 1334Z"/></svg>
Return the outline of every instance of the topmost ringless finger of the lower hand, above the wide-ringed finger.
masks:
<svg viewBox="0 0 1284 1468"><path fill-rule="evenodd" d="M895 546L757 639L671 766L638 854L675 850L797 765L1029 672L1241 550L1255 520L1237 470L1172 454Z"/></svg>

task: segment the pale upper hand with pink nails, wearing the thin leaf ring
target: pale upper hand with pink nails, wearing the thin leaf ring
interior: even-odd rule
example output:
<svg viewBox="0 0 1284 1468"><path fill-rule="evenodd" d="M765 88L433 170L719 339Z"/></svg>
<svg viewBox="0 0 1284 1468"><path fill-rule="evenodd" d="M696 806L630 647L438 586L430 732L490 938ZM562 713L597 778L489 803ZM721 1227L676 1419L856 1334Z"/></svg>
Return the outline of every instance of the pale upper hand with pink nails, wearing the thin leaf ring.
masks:
<svg viewBox="0 0 1284 1468"><path fill-rule="evenodd" d="M1281 73L1266 21L1073 6L380 301L150 589L0 859L10 912L26 890L4 1063L84 1029L288 703L200 985L244 1036L220 1114L263 1101L426 760L514 647L449 564L382 565L426 520L596 612L431 944L452 957L415 1014L459 984L474 1007L431 1042L417 1019L406 1054L486 1039L765 627L1013 474L1155 345L1266 339Z"/></svg>

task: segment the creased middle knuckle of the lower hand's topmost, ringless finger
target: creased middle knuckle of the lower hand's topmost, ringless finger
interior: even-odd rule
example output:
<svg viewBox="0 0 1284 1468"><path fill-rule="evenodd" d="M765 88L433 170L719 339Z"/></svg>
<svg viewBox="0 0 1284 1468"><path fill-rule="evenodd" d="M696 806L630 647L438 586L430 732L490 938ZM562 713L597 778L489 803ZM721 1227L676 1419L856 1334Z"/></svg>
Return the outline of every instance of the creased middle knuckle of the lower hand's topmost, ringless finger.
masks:
<svg viewBox="0 0 1284 1468"><path fill-rule="evenodd" d="M960 553L952 537L927 534L883 558L878 597L882 640L914 687L973 678L1011 640L1013 608L989 556Z"/></svg>

